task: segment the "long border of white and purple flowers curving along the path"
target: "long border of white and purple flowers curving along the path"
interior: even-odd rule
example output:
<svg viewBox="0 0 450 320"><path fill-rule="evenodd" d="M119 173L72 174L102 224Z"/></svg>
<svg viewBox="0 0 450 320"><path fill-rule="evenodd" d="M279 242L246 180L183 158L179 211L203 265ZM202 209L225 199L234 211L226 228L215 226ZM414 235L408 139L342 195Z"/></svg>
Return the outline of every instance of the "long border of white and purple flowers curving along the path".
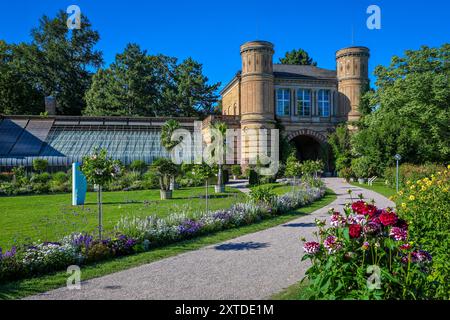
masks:
<svg viewBox="0 0 450 320"><path fill-rule="evenodd" d="M6 252L0 248L0 282L64 270L70 265L145 252L202 234L251 224L299 208L324 195L323 186L310 187L305 184L294 192L274 197L269 203L249 199L227 210L194 216L124 217L116 226L116 235L102 241L89 234L72 234L59 242L22 245Z"/></svg>

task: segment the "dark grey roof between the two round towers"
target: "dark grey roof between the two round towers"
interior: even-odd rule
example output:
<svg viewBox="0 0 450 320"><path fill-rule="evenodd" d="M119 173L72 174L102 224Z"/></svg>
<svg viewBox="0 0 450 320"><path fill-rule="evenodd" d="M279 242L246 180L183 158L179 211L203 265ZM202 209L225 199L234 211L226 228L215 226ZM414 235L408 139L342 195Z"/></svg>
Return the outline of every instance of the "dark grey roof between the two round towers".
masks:
<svg viewBox="0 0 450 320"><path fill-rule="evenodd" d="M275 78L295 78L311 80L335 80L336 70L318 68L309 65L274 64Z"/></svg>

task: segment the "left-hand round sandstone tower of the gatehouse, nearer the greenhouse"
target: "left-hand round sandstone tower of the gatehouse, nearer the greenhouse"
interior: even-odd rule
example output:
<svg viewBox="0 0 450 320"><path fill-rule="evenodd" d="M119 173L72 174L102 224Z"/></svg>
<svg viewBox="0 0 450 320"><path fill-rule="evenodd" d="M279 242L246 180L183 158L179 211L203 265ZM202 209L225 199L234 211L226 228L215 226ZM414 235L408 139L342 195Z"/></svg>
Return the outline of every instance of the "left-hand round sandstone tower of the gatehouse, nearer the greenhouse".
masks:
<svg viewBox="0 0 450 320"><path fill-rule="evenodd" d="M267 41L250 41L241 46L241 160L244 165L254 161L258 154L260 137L250 129L275 127L273 48Z"/></svg>

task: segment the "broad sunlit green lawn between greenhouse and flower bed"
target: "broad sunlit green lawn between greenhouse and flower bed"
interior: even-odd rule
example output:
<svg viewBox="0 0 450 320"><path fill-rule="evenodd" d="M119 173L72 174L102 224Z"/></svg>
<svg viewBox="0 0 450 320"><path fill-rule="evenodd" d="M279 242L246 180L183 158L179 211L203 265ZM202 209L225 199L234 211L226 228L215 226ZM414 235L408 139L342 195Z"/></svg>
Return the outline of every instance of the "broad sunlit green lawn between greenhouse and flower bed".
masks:
<svg viewBox="0 0 450 320"><path fill-rule="evenodd" d="M117 221L126 215L166 216L173 212L205 210L204 187L174 191L172 200L160 200L159 190L104 192L103 224L112 232ZM210 210L228 208L242 201L243 193L227 188L225 194L209 189ZM36 240L57 241L72 232L96 232L98 225L96 193L87 194L86 205L71 206L72 195L33 195L0 198L0 247Z"/></svg>

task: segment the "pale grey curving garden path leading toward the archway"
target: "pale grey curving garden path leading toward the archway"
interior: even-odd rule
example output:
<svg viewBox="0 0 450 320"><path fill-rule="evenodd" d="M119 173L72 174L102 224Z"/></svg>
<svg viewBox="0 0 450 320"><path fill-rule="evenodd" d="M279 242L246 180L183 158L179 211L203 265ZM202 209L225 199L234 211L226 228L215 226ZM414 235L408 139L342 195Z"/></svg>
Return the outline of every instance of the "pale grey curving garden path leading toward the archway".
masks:
<svg viewBox="0 0 450 320"><path fill-rule="evenodd" d="M393 206L385 197L325 179L338 195L331 205L286 224L224 243L121 271L82 283L81 290L61 288L31 299L266 299L299 281L308 267L300 262L300 237L312 239L314 219L330 207L349 202L348 189Z"/></svg>

